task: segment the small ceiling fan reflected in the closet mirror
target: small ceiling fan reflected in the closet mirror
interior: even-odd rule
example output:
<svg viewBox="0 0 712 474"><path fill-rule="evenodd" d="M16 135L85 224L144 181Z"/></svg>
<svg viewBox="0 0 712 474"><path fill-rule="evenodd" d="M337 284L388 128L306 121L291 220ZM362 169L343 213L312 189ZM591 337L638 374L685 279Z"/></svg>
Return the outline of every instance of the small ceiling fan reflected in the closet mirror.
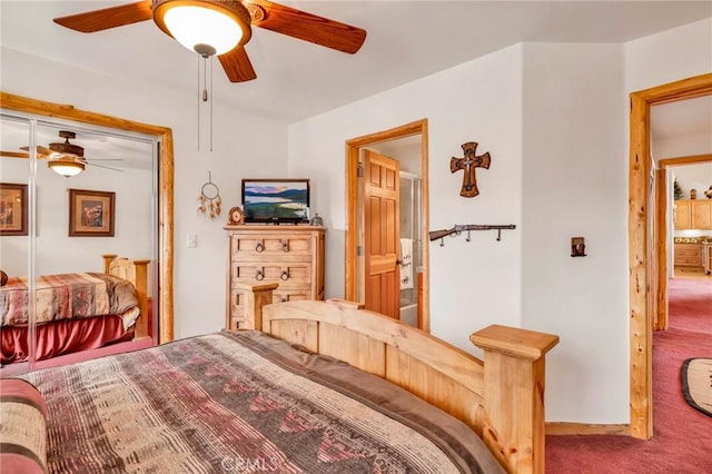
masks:
<svg viewBox="0 0 712 474"><path fill-rule="evenodd" d="M79 145L70 144L70 139L77 138L77 134L69 130L60 130L60 138L65 141L49 144L49 148L37 146L37 158L47 159L47 166L59 175L70 177L80 174L87 167L87 165L96 166L98 168L106 168L112 171L123 172L122 169L112 168L110 166L98 165L92 161L121 161L121 158L92 158L91 160L85 158L85 149ZM30 147L20 147L20 151L0 151L0 156L8 158L29 158Z"/></svg>

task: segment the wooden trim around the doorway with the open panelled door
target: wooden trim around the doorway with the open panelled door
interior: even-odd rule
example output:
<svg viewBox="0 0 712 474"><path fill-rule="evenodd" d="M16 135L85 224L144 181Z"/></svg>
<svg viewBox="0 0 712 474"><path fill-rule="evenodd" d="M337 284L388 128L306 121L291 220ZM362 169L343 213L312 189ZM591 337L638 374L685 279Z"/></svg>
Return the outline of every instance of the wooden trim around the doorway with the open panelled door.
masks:
<svg viewBox="0 0 712 474"><path fill-rule="evenodd" d="M387 148L387 144L408 137L419 138L419 201L417 231L414 240L426 241L428 230L428 194L427 194L427 120L418 120L389 130L377 131L346 141L346 275L345 298L364 302L365 282L364 259L364 206L359 191L359 162L366 148ZM417 326L429 332L429 290L428 290L428 246L419 246L421 265L413 271L414 293L416 294Z"/></svg>

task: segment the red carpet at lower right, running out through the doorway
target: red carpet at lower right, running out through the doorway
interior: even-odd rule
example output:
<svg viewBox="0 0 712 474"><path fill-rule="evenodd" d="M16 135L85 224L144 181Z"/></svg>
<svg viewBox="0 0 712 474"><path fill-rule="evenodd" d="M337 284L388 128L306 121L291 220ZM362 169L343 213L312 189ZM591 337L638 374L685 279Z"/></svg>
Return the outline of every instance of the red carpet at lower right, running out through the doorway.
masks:
<svg viewBox="0 0 712 474"><path fill-rule="evenodd" d="M653 335L653 438L546 436L548 474L701 474L712 472L712 417L692 408L680 367L712 357L712 284L669 280L670 329Z"/></svg>

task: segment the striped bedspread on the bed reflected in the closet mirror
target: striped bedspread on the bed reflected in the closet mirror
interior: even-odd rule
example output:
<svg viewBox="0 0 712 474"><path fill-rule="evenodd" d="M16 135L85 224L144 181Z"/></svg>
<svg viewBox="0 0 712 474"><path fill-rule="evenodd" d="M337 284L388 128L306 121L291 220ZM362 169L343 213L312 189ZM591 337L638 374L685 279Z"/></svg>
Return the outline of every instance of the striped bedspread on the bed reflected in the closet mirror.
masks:
<svg viewBox="0 0 712 474"><path fill-rule="evenodd" d="M119 315L125 327L138 316L139 300L130 282L100 273L47 275L36 278L37 324L60 319ZM27 277L10 278L0 287L2 326L23 326L29 319ZM132 318L132 319L131 319Z"/></svg>

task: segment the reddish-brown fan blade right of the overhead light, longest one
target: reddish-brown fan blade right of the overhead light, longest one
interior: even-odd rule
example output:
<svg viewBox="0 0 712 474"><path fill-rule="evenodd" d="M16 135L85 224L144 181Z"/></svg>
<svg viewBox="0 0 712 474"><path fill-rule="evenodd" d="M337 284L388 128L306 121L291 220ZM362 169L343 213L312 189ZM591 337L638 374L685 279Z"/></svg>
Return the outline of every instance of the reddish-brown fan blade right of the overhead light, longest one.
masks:
<svg viewBox="0 0 712 474"><path fill-rule="evenodd" d="M366 40L366 30L317 17L268 0L246 0L253 24L353 55ZM260 8L261 7L261 8ZM255 9L258 10L257 14ZM261 11L259 11L261 10ZM264 18L260 18L264 17Z"/></svg>

